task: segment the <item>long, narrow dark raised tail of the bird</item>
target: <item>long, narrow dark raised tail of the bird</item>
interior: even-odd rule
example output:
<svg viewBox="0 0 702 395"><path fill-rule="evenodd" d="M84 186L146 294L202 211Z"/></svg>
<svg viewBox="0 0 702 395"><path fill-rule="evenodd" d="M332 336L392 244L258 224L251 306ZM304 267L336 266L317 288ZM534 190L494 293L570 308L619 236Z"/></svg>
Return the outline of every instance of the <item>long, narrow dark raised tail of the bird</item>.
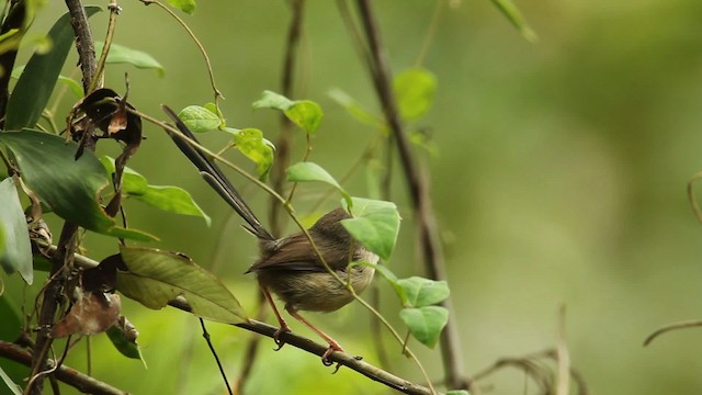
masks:
<svg viewBox="0 0 702 395"><path fill-rule="evenodd" d="M178 117L173 110L171 110L167 105L163 105L162 108L166 114L173 121L176 127L178 127L180 133L182 133L193 142L200 144L193 133ZM239 192L237 192L234 185L231 185L231 182L229 182L229 180L224 176L219 167L207 155L202 153L196 147L192 146L189 142L178 136L177 134L168 129L166 131L166 133L168 133L168 135L173 139L178 148L180 148L180 150L185 154L188 159L190 159L190 161L195 165L197 170L200 170L200 176L202 176L202 178L207 181L210 187L212 187L212 189L214 189L219 194L219 196L222 196L222 199L224 199L225 202L227 202L231 206L231 208L234 208L234 211L236 211L237 214L239 214L239 216L241 216L241 218L246 221L247 224L249 224L249 227L247 227L249 232L251 232L259 239L274 239L271 233L263 227L259 218L257 218L257 216L253 214L249 205L246 204L244 198L241 198Z"/></svg>

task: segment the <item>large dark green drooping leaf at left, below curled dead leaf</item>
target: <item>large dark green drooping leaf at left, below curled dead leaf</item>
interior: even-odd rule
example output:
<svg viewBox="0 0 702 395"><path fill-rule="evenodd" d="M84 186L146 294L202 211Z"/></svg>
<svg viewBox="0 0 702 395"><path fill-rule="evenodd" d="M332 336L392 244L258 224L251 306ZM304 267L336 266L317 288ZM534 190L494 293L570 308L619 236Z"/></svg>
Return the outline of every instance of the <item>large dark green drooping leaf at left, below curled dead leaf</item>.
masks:
<svg viewBox="0 0 702 395"><path fill-rule="evenodd" d="M54 213L86 229L141 241L156 237L116 225L98 203L109 185L107 173L91 151L75 159L78 145L36 131L0 133L0 143L13 154L24 182Z"/></svg>

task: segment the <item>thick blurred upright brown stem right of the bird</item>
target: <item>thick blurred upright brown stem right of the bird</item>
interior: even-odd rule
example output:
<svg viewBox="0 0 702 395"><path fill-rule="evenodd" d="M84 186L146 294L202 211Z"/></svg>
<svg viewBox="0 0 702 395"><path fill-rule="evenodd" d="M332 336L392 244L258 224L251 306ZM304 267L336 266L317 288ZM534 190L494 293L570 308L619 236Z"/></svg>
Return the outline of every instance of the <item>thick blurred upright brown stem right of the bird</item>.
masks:
<svg viewBox="0 0 702 395"><path fill-rule="evenodd" d="M356 0L356 5L370 48L371 59L369 69L373 78L376 94L383 108L383 113L385 114L385 120L397 144L399 159L409 188L412 208L418 217L419 245L421 246L424 266L431 279L445 280L446 274L443 253L441 251L437 219L433 214L428 185L420 176L419 168L412 157L407 135L399 120L390 83L389 67L387 65L385 49L381 42L377 22L367 0ZM450 312L449 323L441 332L441 352L446 374L445 383L452 388L467 388L469 380L465 377L463 373L462 348L451 300L444 301L442 305Z"/></svg>

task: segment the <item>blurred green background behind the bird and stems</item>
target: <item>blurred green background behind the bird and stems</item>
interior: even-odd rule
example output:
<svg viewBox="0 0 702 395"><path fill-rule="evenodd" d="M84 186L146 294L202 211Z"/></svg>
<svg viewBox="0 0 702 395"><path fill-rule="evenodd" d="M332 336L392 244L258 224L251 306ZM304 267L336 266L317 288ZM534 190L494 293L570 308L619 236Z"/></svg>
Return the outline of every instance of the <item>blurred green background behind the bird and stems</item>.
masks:
<svg viewBox="0 0 702 395"><path fill-rule="evenodd" d="M160 119L161 103L180 109L212 101L203 59L182 29L155 5L121 5L115 42L151 54L166 75L113 66L106 84L123 92L128 71L129 101ZM264 89L280 91L286 3L213 0L199 5L195 15L183 18L212 58L228 125L260 127L274 140L278 114L252 112L250 104ZM374 5L393 69L411 67L435 3ZM434 108L417 126L431 127L438 155L419 154L431 172L466 373L498 358L553 347L557 309L564 304L571 363L591 393L698 393L702 331L673 332L648 348L642 342L665 324L700 317L702 227L691 213L686 185L702 170L702 2L547 0L517 5L539 34L537 43L520 36L490 1L464 1L445 10L424 61L437 75L439 90ZM63 12L63 3L47 4L34 32L46 31ZM106 13L93 18L97 40L102 40L105 21ZM341 88L374 111L376 99L335 2L308 1L304 29L296 98L315 100L325 110L313 160L341 176L375 132L348 116L327 92ZM68 65L75 61L73 56ZM67 67L66 74L71 70ZM147 125L145 135L131 167L151 183L186 188L214 221L207 228L202 219L128 202L131 226L158 235L161 241L154 247L183 251L212 268L253 314L256 284L242 275L256 257L252 238L162 131ZM226 144L226 136L215 134L203 139L211 147ZM299 158L299 136L295 148ZM117 151L110 143L101 149ZM361 171L349 181L352 194L367 193L364 177ZM267 196L248 187L244 191L254 210L265 213ZM304 208L321 192L305 185L296 204ZM389 266L400 276L421 274L399 173L393 193L405 221ZM335 200L328 206L332 204ZM57 234L59 222L53 224ZM87 255L95 259L116 250L114 240L102 236L90 235L86 242ZM19 278L2 275L7 295L21 301ZM383 311L398 323L397 302L382 280L376 284L387 296ZM140 331L148 370L122 358L100 336L92 345L97 377L136 394L223 393L193 317L124 304ZM377 362L369 314L360 306L307 316L350 352ZM215 324L210 329L230 379L236 377L250 335ZM248 393L387 393L349 369L332 376L318 359L291 347L272 352L268 339L260 347ZM430 375L441 379L439 351L414 348ZM422 381L397 347L389 352L393 372ZM84 346L78 346L68 363L86 369ZM490 394L524 393L523 374L516 370L483 384ZM534 390L530 384L526 393Z"/></svg>

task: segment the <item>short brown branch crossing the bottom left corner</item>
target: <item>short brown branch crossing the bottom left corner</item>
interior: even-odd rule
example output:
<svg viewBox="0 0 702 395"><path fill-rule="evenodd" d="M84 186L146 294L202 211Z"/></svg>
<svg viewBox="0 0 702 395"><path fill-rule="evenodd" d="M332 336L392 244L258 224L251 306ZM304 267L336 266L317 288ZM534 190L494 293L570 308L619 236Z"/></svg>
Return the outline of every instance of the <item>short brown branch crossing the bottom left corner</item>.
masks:
<svg viewBox="0 0 702 395"><path fill-rule="evenodd" d="M19 362L25 366L32 366L32 353L18 345L0 340L0 356ZM54 366L53 361L48 363L48 366ZM115 388L66 365L59 366L53 375L60 382L64 382L86 394L126 394L126 392L122 390Z"/></svg>

